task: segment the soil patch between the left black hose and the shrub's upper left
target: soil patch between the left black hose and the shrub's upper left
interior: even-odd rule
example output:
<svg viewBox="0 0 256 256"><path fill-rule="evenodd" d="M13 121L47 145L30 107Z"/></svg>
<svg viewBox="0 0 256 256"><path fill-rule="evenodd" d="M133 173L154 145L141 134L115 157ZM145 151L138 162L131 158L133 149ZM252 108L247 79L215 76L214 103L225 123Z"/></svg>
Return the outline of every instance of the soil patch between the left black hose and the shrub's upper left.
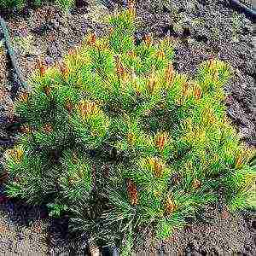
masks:
<svg viewBox="0 0 256 256"><path fill-rule="evenodd" d="M93 12L89 13L90 10ZM89 30L102 35L104 26L90 19L96 16L96 11L102 15L107 10L88 7L85 14L68 15L53 6L44 6L32 11L27 20L20 17L9 20L9 32L24 79L31 75L39 57L50 66L66 55L68 49L81 44Z"/></svg>

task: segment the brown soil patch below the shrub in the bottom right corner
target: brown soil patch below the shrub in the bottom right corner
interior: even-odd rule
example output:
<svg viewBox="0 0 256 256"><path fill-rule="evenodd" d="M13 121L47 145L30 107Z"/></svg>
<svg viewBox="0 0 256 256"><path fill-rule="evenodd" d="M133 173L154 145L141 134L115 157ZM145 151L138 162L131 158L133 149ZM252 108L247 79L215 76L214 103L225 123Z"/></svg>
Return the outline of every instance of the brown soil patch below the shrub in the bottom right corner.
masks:
<svg viewBox="0 0 256 256"><path fill-rule="evenodd" d="M138 255L160 252L167 255L254 255L255 230L251 222L247 222L241 213L232 216L218 212L216 207L207 207L206 211L204 221L177 230L166 241L150 243L150 236L146 236L143 245L137 246L135 251Z"/></svg>

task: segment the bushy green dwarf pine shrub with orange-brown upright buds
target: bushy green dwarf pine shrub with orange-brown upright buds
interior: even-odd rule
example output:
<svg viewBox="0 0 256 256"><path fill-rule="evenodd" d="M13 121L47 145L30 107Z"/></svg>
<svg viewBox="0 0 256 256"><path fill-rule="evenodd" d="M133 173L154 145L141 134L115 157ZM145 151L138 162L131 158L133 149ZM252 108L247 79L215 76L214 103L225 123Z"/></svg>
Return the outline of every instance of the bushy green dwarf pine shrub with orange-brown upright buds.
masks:
<svg viewBox="0 0 256 256"><path fill-rule="evenodd" d="M15 103L19 143L5 153L9 196L67 212L73 230L128 252L137 230L165 239L207 203L252 206L255 178L255 152L225 113L230 66L177 73L170 38L134 44L135 18L130 3L108 36L90 33L55 67L38 62Z"/></svg>

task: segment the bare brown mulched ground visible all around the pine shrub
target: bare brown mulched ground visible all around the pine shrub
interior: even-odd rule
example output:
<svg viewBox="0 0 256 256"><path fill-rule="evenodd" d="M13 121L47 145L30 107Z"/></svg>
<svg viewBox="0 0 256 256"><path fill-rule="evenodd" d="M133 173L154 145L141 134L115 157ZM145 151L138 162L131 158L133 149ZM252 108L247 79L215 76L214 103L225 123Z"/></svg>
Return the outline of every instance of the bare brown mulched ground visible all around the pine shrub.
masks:
<svg viewBox="0 0 256 256"><path fill-rule="evenodd" d="M79 45L88 30L95 30L99 36L106 32L102 14L113 11L115 3L121 6L126 1L102 2L105 5L84 4L83 8L74 9L70 15L61 15L57 9L44 6L38 10L28 10L29 15L25 17L10 18L9 32L23 79L28 79L38 57L44 57L51 65L60 60L68 49ZM178 44L174 65L179 72L194 75L198 64L210 55L230 61L236 72L226 86L227 93L230 93L226 102L228 113L244 141L255 146L252 22L230 9L226 1L172 0L165 5L161 1L137 2L137 15L141 21L137 39L141 40L147 32L153 32L159 38L166 34L176 38ZM252 5L252 1L244 2L247 6ZM9 70L5 50L1 49L0 46L0 141L3 141L4 137L12 136L6 127L1 126L4 119L12 118L12 71ZM0 145L0 159L1 150L3 148ZM31 247L39 255L47 255L46 252L48 255L61 252L66 252L61 255L73 255L72 252L79 255L84 252L84 239L74 241L67 232L67 236L63 235L65 229L61 227L67 226L65 220L44 219L39 216L43 211L40 207L26 207L22 203L6 201L0 206L0 230L3 230L0 232L0 253L13 255L11 253L15 253L16 248L19 255L28 255ZM214 251L215 254L212 255L227 255L232 252L237 253L234 255L253 255L256 252L253 212L225 217L216 207L209 211L207 219L212 219L213 224L191 224L190 228L177 232L172 241L161 244L147 244L148 239L143 247L137 247L137 252L180 252L180 255L206 255L207 252ZM27 214L31 214L30 223L25 221Z"/></svg>

